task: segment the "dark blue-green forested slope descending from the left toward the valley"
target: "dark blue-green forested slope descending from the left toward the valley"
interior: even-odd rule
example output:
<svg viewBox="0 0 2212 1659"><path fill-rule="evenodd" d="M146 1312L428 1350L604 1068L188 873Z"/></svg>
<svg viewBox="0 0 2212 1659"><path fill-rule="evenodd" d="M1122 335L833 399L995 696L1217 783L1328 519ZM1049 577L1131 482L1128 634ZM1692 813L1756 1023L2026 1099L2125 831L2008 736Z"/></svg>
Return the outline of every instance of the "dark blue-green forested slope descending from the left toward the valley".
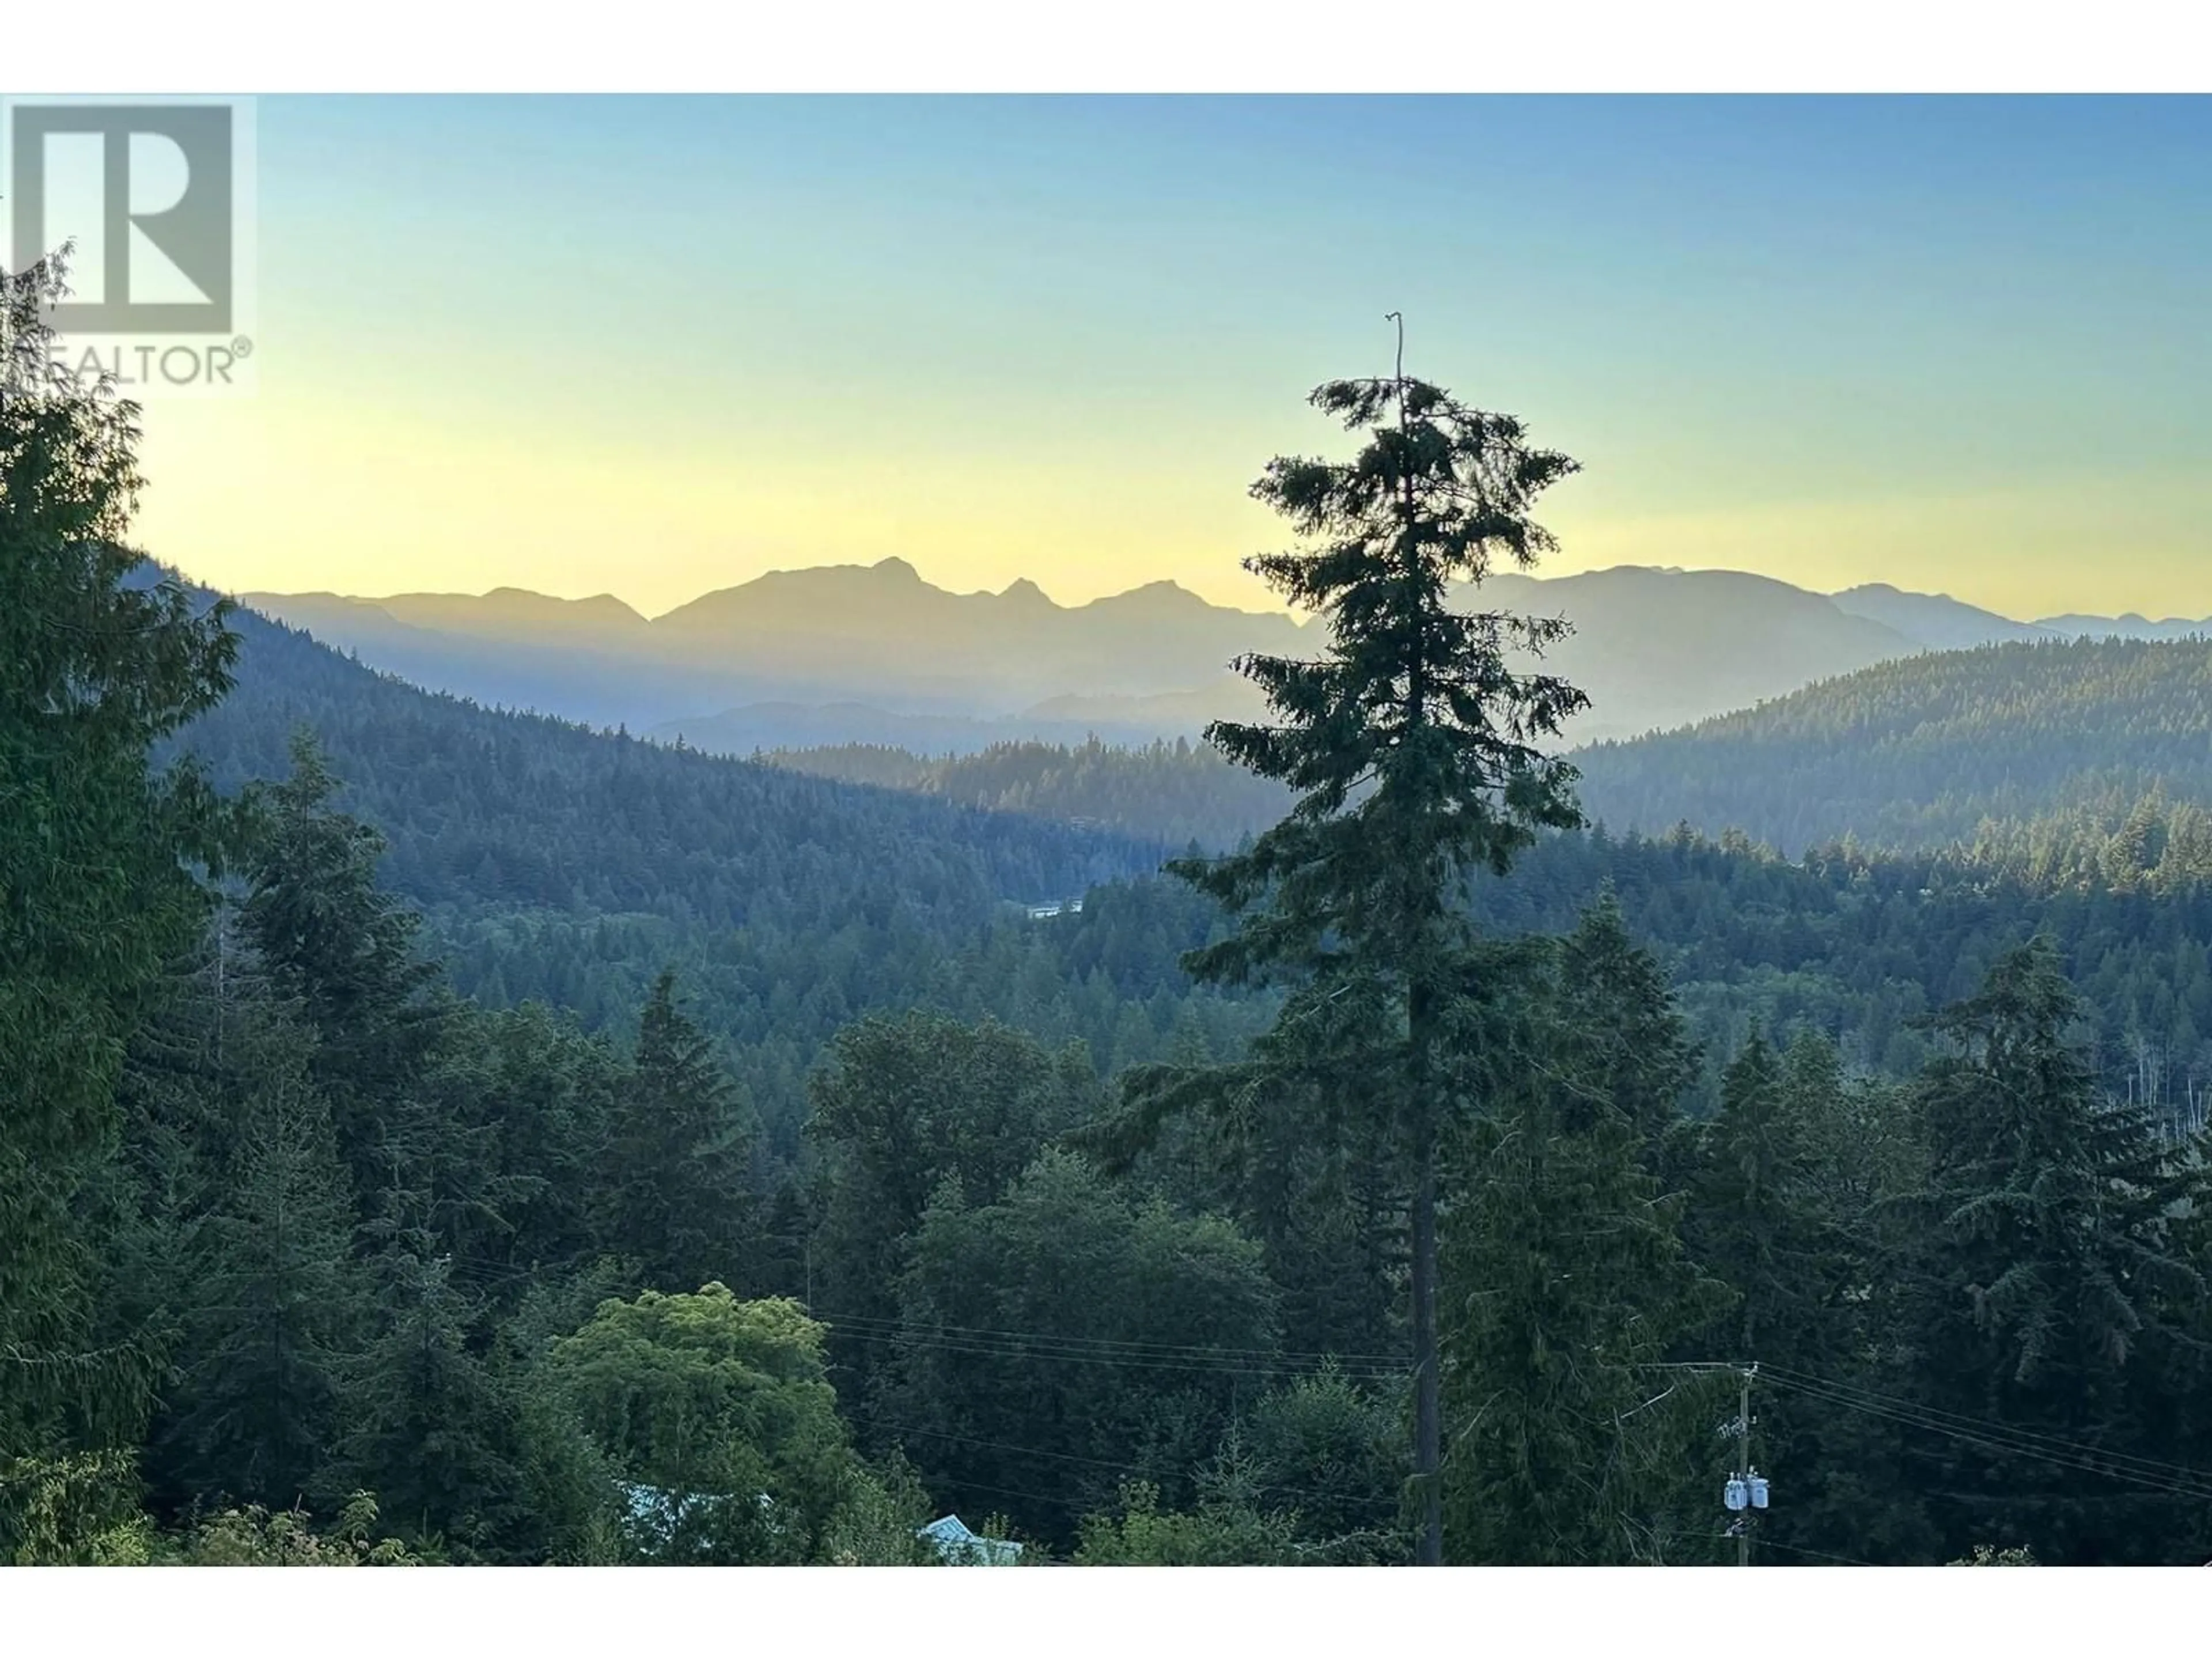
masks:
<svg viewBox="0 0 2212 1659"><path fill-rule="evenodd" d="M179 739L219 787L283 770L310 726L347 801L385 825L392 880L451 898L661 911L681 894L710 927L885 918L980 920L1157 863L1157 847L1062 823L843 790L511 714L374 675L250 611L237 690ZM832 874L834 872L834 874Z"/></svg>

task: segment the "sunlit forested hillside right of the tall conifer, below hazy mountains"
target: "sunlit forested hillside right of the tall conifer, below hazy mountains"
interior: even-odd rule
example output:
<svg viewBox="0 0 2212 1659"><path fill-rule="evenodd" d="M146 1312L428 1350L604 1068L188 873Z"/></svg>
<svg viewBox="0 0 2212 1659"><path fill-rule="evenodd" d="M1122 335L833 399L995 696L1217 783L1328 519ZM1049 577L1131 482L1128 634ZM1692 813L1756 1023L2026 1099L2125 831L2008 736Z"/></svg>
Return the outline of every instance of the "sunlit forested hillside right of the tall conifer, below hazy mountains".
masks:
<svg viewBox="0 0 2212 1659"><path fill-rule="evenodd" d="M2212 803L2212 644L2070 639L1931 653L1577 752L1615 830L1743 830L1781 852L1971 843L1984 821Z"/></svg>

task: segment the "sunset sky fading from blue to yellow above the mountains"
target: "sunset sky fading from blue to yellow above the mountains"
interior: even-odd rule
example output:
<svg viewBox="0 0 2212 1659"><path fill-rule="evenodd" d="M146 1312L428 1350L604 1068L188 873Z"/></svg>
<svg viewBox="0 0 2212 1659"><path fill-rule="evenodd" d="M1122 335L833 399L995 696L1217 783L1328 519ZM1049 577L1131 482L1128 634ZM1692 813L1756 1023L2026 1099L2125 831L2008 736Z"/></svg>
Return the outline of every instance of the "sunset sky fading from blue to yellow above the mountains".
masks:
<svg viewBox="0 0 2212 1659"><path fill-rule="evenodd" d="M263 97L257 392L148 403L230 591L909 560L1265 608L1407 369L1584 471L1548 573L2212 613L2208 100Z"/></svg>

